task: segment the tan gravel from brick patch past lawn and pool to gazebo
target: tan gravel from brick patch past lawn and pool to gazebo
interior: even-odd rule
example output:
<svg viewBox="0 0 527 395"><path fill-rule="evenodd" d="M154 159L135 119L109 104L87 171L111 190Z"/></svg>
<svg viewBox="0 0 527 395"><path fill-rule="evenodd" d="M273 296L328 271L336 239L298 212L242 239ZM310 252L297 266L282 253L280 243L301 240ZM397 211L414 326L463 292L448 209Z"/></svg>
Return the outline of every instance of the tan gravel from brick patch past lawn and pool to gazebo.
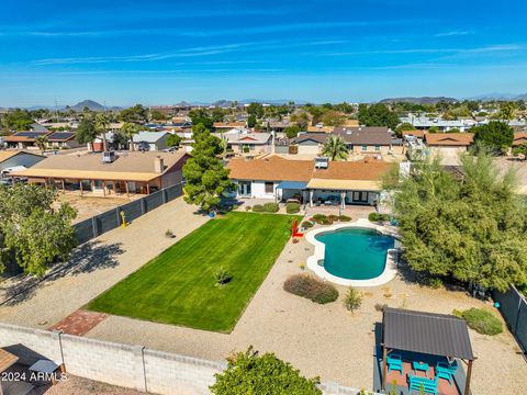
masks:
<svg viewBox="0 0 527 395"><path fill-rule="evenodd" d="M363 289L363 303L356 314L343 306L345 287L338 287L339 301L317 305L282 290L283 281L301 271L299 264L305 263L311 251L305 240L285 246L229 335L110 316L87 336L213 360L253 345L276 352L307 376L371 388L374 325L381 321L375 304L445 314L453 308L492 308L491 303L464 292L422 287L401 276L384 286ZM470 335L478 357L473 393L522 393L527 387L527 364L511 334L489 337L470 330Z"/></svg>

